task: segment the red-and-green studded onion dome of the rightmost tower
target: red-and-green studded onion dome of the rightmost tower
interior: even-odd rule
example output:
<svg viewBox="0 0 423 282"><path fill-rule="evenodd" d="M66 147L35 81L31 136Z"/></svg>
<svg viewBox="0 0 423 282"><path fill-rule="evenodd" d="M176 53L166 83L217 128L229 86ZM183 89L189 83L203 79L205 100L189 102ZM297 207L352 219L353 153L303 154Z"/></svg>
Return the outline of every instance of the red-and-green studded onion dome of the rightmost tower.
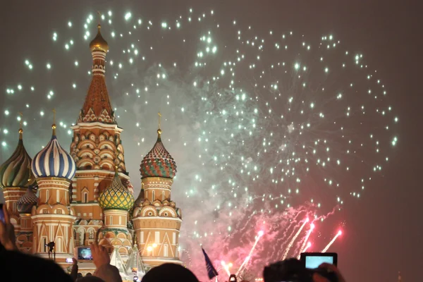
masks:
<svg viewBox="0 0 423 282"><path fill-rule="evenodd" d="M161 142L161 129L157 130L157 141L153 149L142 159L140 172L142 178L173 178L176 175L176 162Z"/></svg>

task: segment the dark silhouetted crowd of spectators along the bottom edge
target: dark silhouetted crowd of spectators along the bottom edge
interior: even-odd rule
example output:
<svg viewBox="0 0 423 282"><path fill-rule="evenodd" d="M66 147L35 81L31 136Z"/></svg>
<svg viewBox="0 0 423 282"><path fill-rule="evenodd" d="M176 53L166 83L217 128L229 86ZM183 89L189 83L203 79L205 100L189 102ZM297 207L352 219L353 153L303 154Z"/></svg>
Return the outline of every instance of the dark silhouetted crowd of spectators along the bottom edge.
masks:
<svg viewBox="0 0 423 282"><path fill-rule="evenodd" d="M64 281L64 282L121 282L118 269L110 264L107 250L97 243L92 244L94 274L82 277L78 274L78 260L73 258L71 274L51 259L42 259L23 254L16 247L13 224L6 205L3 205L4 221L0 221L0 269L1 281ZM205 270L205 268L204 268ZM183 281L198 282L197 277L178 264L161 264L145 274L142 282ZM228 281L238 282L235 276ZM341 272L333 264L321 264L317 269L306 269L298 259L286 259L264 267L265 282L345 282ZM243 281L241 281L243 282Z"/></svg>

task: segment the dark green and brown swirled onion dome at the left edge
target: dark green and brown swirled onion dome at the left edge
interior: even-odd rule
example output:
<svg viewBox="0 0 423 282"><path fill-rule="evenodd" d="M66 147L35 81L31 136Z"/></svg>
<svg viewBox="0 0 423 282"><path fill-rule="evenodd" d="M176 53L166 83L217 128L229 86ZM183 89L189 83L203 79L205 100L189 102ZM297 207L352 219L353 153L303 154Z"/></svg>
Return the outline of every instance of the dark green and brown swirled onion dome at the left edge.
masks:
<svg viewBox="0 0 423 282"><path fill-rule="evenodd" d="M18 146L12 156L0 166L0 188L25 188L35 182L30 171L31 158L23 146L23 130L19 129Z"/></svg>

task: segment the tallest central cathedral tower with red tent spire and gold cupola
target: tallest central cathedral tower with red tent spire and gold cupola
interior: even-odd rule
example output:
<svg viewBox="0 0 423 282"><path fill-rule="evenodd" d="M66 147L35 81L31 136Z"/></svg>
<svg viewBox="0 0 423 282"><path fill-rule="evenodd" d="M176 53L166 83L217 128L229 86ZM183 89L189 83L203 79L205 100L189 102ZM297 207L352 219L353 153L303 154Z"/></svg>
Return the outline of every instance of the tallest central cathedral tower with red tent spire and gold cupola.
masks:
<svg viewBox="0 0 423 282"><path fill-rule="evenodd" d="M102 37L100 25L97 36L90 43L90 50L91 84L78 122L72 127L71 156L77 171L72 183L71 206L78 218L75 224L77 245L90 245L94 234L103 226L99 194L114 179L116 166L125 185L129 185L121 142L123 129L116 123L104 78L109 45Z"/></svg>

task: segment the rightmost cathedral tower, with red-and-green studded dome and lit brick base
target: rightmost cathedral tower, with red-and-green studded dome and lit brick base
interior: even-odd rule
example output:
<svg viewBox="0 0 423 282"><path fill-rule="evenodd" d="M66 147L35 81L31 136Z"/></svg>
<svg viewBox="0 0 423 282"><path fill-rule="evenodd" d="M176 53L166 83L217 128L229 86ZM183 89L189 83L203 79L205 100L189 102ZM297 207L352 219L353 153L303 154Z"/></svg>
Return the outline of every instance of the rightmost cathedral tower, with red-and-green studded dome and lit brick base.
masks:
<svg viewBox="0 0 423 282"><path fill-rule="evenodd" d="M176 163L161 142L160 121L157 133L157 142L140 165L142 192L133 211L137 246L146 270L166 262L182 264L178 252L182 214L171 200Z"/></svg>

